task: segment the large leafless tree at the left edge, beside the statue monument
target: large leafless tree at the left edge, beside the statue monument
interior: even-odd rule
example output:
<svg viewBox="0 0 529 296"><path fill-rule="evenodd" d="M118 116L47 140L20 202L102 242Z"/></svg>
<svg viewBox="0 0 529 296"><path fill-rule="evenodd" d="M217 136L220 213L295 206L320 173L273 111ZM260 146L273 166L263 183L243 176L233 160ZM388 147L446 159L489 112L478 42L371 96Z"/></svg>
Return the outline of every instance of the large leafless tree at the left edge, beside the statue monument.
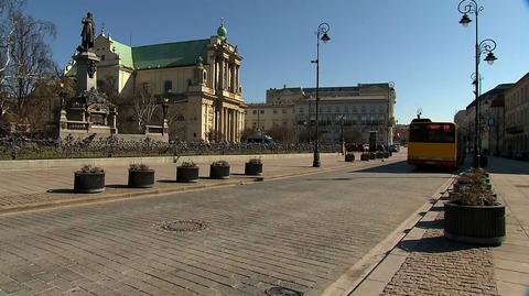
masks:
<svg viewBox="0 0 529 296"><path fill-rule="evenodd" d="M24 15L23 1L4 0L3 3L7 9L4 32L9 32L10 35L7 44L9 63L2 73L2 84L8 96L17 101L20 121L26 117L26 101L35 89L36 81L54 74L50 46L44 39L55 37L56 30L51 22Z"/></svg>

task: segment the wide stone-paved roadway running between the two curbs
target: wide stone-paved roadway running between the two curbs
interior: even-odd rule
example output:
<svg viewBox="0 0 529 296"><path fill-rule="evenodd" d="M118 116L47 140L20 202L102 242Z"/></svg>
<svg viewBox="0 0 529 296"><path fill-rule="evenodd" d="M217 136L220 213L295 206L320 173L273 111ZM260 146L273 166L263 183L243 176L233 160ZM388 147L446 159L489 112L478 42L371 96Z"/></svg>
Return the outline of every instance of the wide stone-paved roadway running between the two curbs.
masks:
<svg viewBox="0 0 529 296"><path fill-rule="evenodd" d="M449 177L398 163L0 215L0 290L264 295L281 285L320 295ZM207 228L160 231L192 219Z"/></svg>

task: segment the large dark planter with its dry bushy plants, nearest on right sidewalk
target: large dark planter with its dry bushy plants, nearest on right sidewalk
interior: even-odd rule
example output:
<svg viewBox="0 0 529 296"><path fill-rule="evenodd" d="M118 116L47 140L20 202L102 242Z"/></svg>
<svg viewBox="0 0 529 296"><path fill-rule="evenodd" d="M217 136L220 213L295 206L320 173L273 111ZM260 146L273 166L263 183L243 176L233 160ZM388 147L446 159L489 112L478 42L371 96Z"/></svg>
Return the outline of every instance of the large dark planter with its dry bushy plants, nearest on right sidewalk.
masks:
<svg viewBox="0 0 529 296"><path fill-rule="evenodd" d="M499 245L505 233L505 205L494 194L488 173L472 168L460 174L444 204L444 237L458 242Z"/></svg>

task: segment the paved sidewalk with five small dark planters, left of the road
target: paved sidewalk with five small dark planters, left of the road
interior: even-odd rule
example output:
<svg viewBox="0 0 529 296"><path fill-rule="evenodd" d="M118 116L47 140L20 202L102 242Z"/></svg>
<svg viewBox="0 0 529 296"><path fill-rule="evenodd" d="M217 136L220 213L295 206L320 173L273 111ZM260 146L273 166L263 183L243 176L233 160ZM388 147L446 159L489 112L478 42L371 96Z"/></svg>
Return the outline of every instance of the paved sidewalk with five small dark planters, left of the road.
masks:
<svg viewBox="0 0 529 296"><path fill-rule="evenodd" d="M263 158L262 176L245 176L244 165L249 156L230 156L230 179L213 180L208 178L209 161L197 162L201 179L195 184L175 183L176 165L182 161L193 160L185 156L179 163L145 164L155 169L155 184L153 188L136 189L127 187L128 166L104 166L106 172L106 190L101 194L79 195L73 193L76 167L39 168L39 169L0 169L0 213L53 207L58 205L72 205L79 202L101 201L109 199L130 198L138 196L151 196L156 194L171 194L184 190L204 189L218 186L234 186L251 182L283 178L289 176L315 174L326 171L346 167L370 167L380 165L380 160L359 162L359 154L354 163L344 162L344 156L337 153L321 154L322 167L312 167L313 155L302 154L296 157L277 155L276 158ZM402 161L404 154L384 160L385 164ZM198 157L197 157L198 158ZM195 158L195 160L197 160ZM223 156L217 157L222 160Z"/></svg>

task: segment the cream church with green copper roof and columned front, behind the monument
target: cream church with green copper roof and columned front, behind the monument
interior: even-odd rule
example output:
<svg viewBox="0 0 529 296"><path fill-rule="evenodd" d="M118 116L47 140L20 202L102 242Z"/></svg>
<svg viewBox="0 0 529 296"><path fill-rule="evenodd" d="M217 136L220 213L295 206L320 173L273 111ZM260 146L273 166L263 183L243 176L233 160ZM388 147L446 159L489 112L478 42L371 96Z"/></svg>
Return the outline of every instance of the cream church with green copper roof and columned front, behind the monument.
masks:
<svg viewBox="0 0 529 296"><path fill-rule="evenodd" d="M95 40L97 84L125 100L138 96L169 101L173 139L239 141L246 103L240 84L242 57L222 24L204 40L130 46L105 34ZM75 64L67 74L75 75ZM119 110L118 110L119 111ZM173 134L171 134L173 133Z"/></svg>

